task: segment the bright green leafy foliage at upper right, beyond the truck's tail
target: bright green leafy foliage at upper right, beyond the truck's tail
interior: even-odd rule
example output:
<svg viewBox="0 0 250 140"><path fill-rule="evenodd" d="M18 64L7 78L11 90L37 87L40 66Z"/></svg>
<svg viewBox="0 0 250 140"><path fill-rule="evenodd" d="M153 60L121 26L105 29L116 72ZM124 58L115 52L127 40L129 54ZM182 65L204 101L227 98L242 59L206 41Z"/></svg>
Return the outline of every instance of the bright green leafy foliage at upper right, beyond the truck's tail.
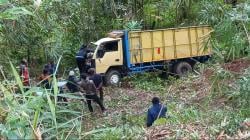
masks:
<svg viewBox="0 0 250 140"><path fill-rule="evenodd" d="M205 2L200 12L204 23L214 26L214 40L219 43L214 46L222 52L226 61L240 58L248 53L249 38L248 8L250 3L240 4L230 9L216 2Z"/></svg>

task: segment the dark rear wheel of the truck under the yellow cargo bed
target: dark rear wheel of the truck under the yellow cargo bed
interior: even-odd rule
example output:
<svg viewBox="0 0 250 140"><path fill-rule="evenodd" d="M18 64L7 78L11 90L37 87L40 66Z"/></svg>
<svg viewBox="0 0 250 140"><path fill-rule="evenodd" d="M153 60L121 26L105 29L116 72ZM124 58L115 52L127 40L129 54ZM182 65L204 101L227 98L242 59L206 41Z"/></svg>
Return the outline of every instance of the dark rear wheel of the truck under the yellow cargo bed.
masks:
<svg viewBox="0 0 250 140"><path fill-rule="evenodd" d="M188 62L179 62L175 65L174 72L178 76L184 76L192 71L192 66Z"/></svg>

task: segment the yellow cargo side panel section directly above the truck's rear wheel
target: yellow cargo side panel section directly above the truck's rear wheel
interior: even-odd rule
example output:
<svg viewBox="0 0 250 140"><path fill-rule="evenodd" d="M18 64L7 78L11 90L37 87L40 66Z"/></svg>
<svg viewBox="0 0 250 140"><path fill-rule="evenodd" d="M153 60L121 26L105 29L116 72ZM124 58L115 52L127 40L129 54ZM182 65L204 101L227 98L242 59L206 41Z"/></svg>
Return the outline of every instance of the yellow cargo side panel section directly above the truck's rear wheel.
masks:
<svg viewBox="0 0 250 140"><path fill-rule="evenodd" d="M176 57L177 58L190 57L188 29L176 29L175 40L176 40Z"/></svg>

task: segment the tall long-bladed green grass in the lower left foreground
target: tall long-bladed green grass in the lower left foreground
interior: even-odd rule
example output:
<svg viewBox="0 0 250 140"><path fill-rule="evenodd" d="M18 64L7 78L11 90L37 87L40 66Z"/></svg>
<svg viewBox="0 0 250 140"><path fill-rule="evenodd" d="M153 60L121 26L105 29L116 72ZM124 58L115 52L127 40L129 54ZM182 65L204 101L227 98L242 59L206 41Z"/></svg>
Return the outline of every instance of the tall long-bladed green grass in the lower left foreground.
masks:
<svg viewBox="0 0 250 140"><path fill-rule="evenodd" d="M59 62L60 59L57 68ZM82 111L82 97L69 93L58 94L55 75L53 90L33 86L25 91L13 64L10 63L10 66L18 90L12 92L11 86L0 82L0 135L6 139L81 138L77 129L82 127L82 117L87 115ZM38 92L42 94L38 95ZM67 106L58 104L57 96L65 96L75 102L68 102Z"/></svg>

